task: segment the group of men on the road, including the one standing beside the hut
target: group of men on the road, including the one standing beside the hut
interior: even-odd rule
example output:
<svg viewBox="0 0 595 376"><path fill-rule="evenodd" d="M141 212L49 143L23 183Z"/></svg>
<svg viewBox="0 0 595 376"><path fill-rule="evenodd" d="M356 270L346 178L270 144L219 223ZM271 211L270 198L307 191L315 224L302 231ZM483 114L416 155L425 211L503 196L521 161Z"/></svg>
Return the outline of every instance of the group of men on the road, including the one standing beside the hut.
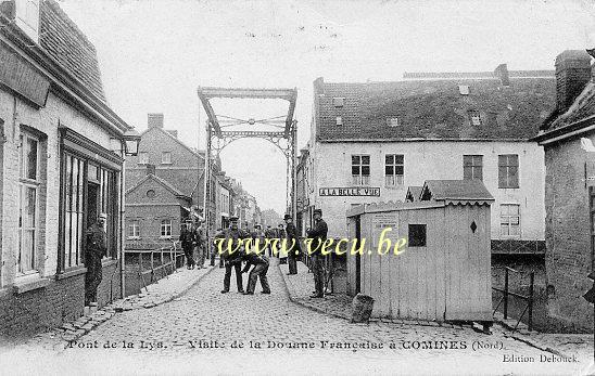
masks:
<svg viewBox="0 0 595 376"><path fill-rule="evenodd" d="M308 250L312 259L312 270L314 273L314 285L315 291L311 298L322 298L325 296L325 257L321 252L322 245L327 241L328 226L325 220L322 220L322 211L320 209L314 210L314 228L306 231L311 248ZM302 247L300 243L300 236L298 230L292 222L290 215L284 216L286 229L283 232L278 232L284 236L287 239L287 258L289 265L288 274L298 274L298 259L302 255ZM259 239L258 244L261 248L264 248L263 244L266 244L265 237L269 239L268 250L269 256L275 252L273 249L273 243L270 242L274 237L273 233L269 231L268 235L262 233L262 231L254 231L252 233L242 230L238 226L238 218L230 218L230 225L228 229L225 229L215 235L214 244L215 247L220 247L221 252L220 257L225 267L225 276L224 276L224 288L221 294L229 293L230 280L231 280L231 270L236 271L236 285L238 287L238 293L244 295L253 295L256 287L256 281L261 281L262 293L270 294L270 286L268 285L268 278L266 273L269 267L269 258L265 255L264 249L255 251L255 249L246 250L244 247L244 241ZM277 237L279 241L277 244L281 243L280 236ZM220 244L223 242L223 244ZM252 243L254 244L254 243ZM236 251L229 251L235 249ZM279 255L281 257L282 255ZM242 262L245 261L245 267L242 269ZM254 265L249 275L248 286L244 291L242 273L246 273L251 265Z"/></svg>

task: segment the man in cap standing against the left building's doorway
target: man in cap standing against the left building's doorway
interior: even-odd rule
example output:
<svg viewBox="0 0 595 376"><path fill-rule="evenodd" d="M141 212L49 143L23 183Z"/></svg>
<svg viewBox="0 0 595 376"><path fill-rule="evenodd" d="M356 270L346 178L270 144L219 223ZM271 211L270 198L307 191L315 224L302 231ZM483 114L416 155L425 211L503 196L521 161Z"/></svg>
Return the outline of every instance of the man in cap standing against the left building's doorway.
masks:
<svg viewBox="0 0 595 376"><path fill-rule="evenodd" d="M85 249L85 306L97 304L97 287L101 283L103 272L101 259L107 255L107 235L103 225L107 215L99 215L97 221L86 232L87 247Z"/></svg>

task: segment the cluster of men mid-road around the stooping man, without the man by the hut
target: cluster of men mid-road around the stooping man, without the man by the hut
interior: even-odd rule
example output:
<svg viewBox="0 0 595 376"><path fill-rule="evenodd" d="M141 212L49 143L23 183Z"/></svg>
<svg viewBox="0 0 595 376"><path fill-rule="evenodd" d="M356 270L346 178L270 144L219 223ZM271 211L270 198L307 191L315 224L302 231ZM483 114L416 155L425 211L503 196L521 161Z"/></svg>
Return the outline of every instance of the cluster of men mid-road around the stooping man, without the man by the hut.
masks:
<svg viewBox="0 0 595 376"><path fill-rule="evenodd" d="M229 228L215 235L214 244L216 249L218 249L220 242L223 242L223 245L220 246L221 250L227 249L227 251L223 251L220 254L225 267L224 288L221 294L229 293L232 269L236 271L236 285L238 287L238 293L253 295L254 289L256 288L256 281L259 280L262 293L270 294L270 287L266 276L269 267L269 257L278 250L273 247L275 244L280 244L282 241L281 236L287 238L287 243L290 245L290 248L288 249L288 263L290 265L288 274L298 274L296 260L302 252L300 238L298 231L295 230L295 225L292 223L291 216L286 215L283 219L286 221L286 229L280 229L283 231L278 231L275 234L270 231L270 228L267 229L268 233L263 233L262 230L259 230L259 225L255 226L255 231L248 232L238 226L237 217L231 217L229 220ZM273 241L275 238L278 241L274 243ZM251 239L251 244L253 245L256 244L256 241L258 241L257 244L259 249L256 250L255 247L253 247L253 249L246 249L244 245L248 239ZM268 243L266 242L267 239ZM230 242L229 248L235 249L236 251L228 251L228 242ZM291 245L293 246L291 247ZM268 249L269 257L265 255L265 248ZM281 257L282 255L278 256ZM244 261L245 267L242 269L241 265ZM248 286L244 291L242 273L246 273L252 265L254 265L254 268L252 268L252 271L250 272Z"/></svg>

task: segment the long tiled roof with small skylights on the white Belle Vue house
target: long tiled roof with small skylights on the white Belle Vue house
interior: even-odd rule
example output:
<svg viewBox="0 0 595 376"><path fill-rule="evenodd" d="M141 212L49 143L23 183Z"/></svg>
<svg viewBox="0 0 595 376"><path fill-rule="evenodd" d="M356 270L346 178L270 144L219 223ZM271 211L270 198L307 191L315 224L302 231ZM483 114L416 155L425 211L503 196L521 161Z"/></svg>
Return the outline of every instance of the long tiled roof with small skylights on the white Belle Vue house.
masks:
<svg viewBox="0 0 595 376"><path fill-rule="evenodd" d="M554 75L393 82L314 82L317 139L332 141L528 140L556 103ZM463 95L459 86L468 86ZM336 107L333 98L343 98ZM473 126L470 113L481 125ZM337 125L337 117L342 126ZM390 127L389 118L398 125Z"/></svg>

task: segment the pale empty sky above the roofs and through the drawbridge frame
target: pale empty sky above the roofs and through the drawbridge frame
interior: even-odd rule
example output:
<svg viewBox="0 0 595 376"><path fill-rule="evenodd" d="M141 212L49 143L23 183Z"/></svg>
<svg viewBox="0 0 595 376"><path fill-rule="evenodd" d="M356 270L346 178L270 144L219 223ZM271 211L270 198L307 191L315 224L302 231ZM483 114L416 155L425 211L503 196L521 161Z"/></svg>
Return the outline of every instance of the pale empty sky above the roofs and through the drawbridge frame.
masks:
<svg viewBox="0 0 595 376"><path fill-rule="evenodd" d="M97 48L111 107L139 131L163 113L190 146L205 145L198 87L296 88L298 146L313 81L394 81L403 72L554 69L558 53L595 47L588 1L62 0ZM215 113L263 119L284 101L213 100ZM286 158L245 139L223 150L228 176L262 209L284 212Z"/></svg>

